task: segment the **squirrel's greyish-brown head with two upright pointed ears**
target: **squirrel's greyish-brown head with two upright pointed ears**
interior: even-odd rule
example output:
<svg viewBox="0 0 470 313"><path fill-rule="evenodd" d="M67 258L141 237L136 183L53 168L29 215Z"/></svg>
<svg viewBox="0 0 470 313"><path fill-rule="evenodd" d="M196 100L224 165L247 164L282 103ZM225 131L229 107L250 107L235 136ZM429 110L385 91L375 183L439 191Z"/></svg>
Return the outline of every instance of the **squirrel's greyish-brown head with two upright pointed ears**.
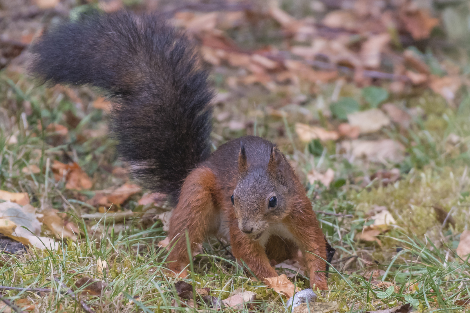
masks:
<svg viewBox="0 0 470 313"><path fill-rule="evenodd" d="M250 165L243 143L238 155L238 183L231 196L238 227L257 240L270 223L281 221L287 212L288 188L285 169L289 164L275 147L268 164Z"/></svg>

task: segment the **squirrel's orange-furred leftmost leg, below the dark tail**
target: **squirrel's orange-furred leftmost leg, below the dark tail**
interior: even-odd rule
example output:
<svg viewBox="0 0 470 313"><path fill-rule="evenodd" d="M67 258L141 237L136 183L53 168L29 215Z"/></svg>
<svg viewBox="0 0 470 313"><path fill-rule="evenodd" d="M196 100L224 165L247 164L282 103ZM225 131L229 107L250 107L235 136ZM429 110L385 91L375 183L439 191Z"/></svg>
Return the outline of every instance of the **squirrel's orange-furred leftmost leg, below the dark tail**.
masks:
<svg viewBox="0 0 470 313"><path fill-rule="evenodd" d="M215 220L212 198L214 183L214 173L210 168L202 166L192 170L181 187L180 199L170 218L168 236L168 247L172 249L168 256L172 262L168 268L177 274L189 264L186 232L191 251L194 252L213 228L210 223Z"/></svg>

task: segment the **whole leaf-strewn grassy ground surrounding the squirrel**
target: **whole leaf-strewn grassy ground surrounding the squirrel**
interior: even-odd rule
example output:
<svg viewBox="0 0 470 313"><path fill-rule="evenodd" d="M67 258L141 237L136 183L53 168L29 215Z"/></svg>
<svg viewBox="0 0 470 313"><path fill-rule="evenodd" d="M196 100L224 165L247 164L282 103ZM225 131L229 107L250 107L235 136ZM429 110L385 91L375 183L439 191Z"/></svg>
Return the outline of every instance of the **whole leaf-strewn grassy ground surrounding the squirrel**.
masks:
<svg viewBox="0 0 470 313"><path fill-rule="evenodd" d="M187 279L167 276L171 207L129 179L112 103L27 75L44 29L119 7L160 10L200 44L214 149L254 134L288 155L336 249L305 312L470 309L467 1L2 0L1 312L290 311L217 238ZM298 261L276 268L308 288Z"/></svg>

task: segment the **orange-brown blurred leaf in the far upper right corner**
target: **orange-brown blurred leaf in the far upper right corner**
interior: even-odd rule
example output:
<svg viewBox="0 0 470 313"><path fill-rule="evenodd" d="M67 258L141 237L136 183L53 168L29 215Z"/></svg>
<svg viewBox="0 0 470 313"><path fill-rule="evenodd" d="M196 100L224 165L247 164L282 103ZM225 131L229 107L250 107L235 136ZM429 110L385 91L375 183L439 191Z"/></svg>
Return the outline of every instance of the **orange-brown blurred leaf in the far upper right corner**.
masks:
<svg viewBox="0 0 470 313"><path fill-rule="evenodd" d="M421 9L414 12L403 12L401 20L415 40L428 38L432 29L439 25L438 18L431 17L428 12Z"/></svg>

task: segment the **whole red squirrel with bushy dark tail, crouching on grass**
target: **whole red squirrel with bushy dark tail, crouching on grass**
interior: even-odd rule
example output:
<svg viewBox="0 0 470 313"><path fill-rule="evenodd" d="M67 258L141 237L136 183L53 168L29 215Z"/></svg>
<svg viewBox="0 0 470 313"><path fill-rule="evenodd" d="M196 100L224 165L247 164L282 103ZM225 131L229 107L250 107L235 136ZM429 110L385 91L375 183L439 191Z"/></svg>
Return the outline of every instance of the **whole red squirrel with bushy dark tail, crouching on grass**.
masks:
<svg viewBox="0 0 470 313"><path fill-rule="evenodd" d="M183 32L159 15L96 12L53 25L30 52L29 70L42 82L98 87L113 101L119 155L143 187L175 205L169 269L187 267L186 236L195 251L219 234L260 279L277 276L271 260L300 250L310 286L328 289L332 248L286 156L256 136L211 153L214 91Z"/></svg>

